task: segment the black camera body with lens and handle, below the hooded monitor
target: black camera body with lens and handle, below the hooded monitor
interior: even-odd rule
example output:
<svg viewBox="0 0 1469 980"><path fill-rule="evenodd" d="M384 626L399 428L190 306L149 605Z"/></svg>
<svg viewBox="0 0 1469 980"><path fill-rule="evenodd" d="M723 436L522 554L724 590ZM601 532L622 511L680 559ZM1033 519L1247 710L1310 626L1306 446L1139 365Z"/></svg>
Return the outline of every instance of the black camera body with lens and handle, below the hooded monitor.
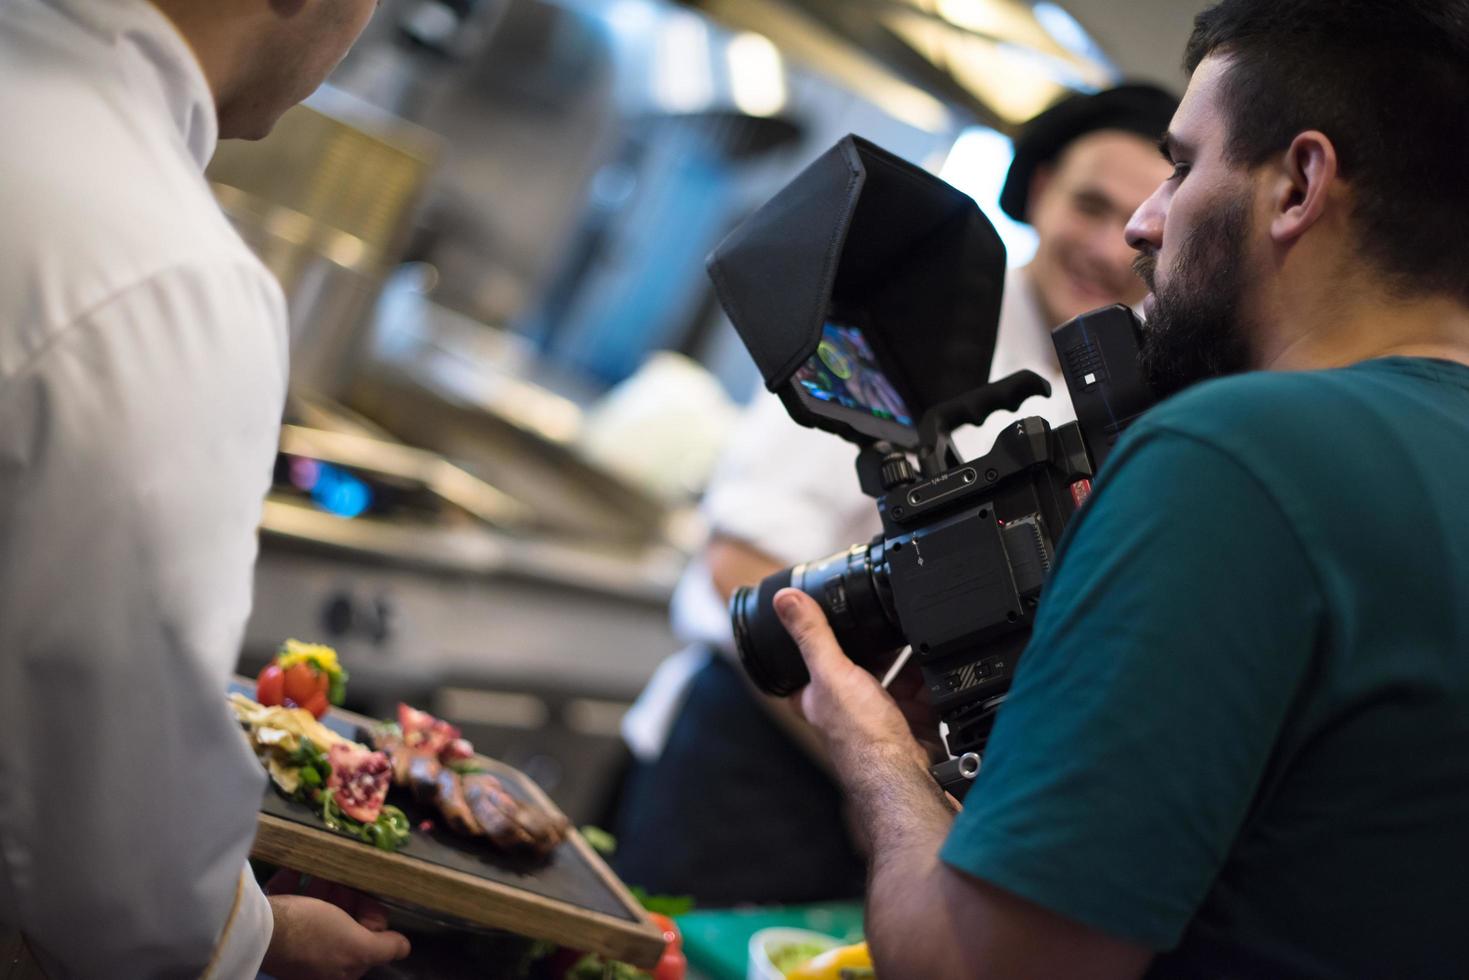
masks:
<svg viewBox="0 0 1469 980"><path fill-rule="evenodd" d="M853 661L877 670L887 654L911 646L948 729L949 752L983 752L1061 535L1122 429L1152 404L1130 310L1084 314L1053 338L1077 422L1052 428L1040 417L1019 419L986 455L958 463L948 433L934 429L949 458L920 447L920 460L937 470L931 475L915 469L908 453L873 442L859 454L858 472L876 497L883 532L736 592L736 646L757 686L789 695L809 680L771 607L777 591L793 586L821 604ZM977 389L940 417L978 423L999 404L1042 392L1044 382L1022 372Z"/></svg>

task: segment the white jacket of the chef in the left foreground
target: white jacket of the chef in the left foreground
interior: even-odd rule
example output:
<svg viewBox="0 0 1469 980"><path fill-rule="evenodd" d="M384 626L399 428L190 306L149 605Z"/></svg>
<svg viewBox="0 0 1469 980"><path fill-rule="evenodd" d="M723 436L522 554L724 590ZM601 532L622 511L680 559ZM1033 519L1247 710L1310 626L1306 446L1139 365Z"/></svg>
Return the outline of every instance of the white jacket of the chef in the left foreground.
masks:
<svg viewBox="0 0 1469 980"><path fill-rule="evenodd" d="M53 977L250 977L264 789L225 705L279 439L279 287L145 0L0 3L0 927Z"/></svg>

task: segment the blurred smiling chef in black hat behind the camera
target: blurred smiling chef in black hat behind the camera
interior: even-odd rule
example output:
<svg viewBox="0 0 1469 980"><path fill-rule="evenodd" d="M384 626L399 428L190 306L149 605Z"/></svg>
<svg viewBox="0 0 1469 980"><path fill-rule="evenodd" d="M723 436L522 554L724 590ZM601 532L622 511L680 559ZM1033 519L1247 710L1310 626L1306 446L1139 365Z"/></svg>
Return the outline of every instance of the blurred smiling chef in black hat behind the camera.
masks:
<svg viewBox="0 0 1469 980"><path fill-rule="evenodd" d="M1053 394L959 430L965 458L987 453L1017 417L1075 417L1050 329L1141 301L1146 287L1122 229L1169 173L1156 141L1177 104L1152 85L1072 96L1017 140L1000 206L1034 226L1039 245L1006 273L990 376L1030 369ZM705 905L862 893L864 860L812 732L789 704L745 680L727 611L739 586L878 532L853 460L853 447L798 426L765 392L736 433L704 500L710 542L673 599L674 630L690 646L660 667L623 726L636 761L621 793L616 865L629 883Z"/></svg>

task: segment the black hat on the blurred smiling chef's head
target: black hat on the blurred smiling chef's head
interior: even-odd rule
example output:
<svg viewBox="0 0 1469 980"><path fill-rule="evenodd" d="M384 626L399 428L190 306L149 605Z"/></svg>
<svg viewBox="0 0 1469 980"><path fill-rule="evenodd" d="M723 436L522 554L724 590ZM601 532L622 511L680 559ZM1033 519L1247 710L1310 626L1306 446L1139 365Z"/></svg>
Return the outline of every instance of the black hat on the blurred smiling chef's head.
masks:
<svg viewBox="0 0 1469 980"><path fill-rule="evenodd" d="M1018 222L1028 220L1025 210L1036 169L1061 156L1074 140L1099 129L1121 129L1156 140L1168 129L1177 110L1177 98L1147 84L1062 98L1027 122L1015 140L1015 160L1000 191L1000 210Z"/></svg>

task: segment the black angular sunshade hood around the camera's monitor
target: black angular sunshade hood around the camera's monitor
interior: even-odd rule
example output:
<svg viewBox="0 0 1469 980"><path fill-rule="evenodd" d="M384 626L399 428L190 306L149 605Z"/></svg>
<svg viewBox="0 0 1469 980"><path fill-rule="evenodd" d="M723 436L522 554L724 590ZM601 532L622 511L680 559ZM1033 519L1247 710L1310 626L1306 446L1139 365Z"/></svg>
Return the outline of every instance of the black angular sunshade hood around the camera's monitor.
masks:
<svg viewBox="0 0 1469 980"><path fill-rule="evenodd" d="M1005 245L974 198L861 137L821 154L707 266L765 386L806 425L818 422L787 382L833 316L862 326L915 419L989 379Z"/></svg>

